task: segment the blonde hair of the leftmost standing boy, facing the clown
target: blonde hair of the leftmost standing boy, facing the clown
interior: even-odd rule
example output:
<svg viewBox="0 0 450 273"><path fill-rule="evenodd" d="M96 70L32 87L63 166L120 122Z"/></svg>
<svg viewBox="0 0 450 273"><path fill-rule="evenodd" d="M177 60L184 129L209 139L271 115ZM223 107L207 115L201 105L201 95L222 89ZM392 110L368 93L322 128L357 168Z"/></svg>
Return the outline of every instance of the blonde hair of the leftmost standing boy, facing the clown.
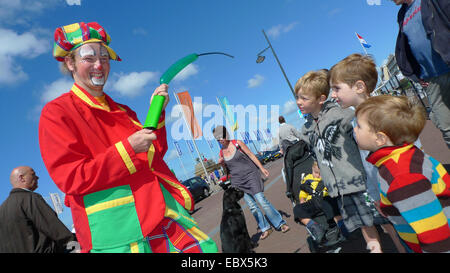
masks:
<svg viewBox="0 0 450 273"><path fill-rule="evenodd" d="M295 84L295 94L298 94L300 89L316 98L319 98L321 95L328 97L330 93L328 69L309 71L303 75Z"/></svg>

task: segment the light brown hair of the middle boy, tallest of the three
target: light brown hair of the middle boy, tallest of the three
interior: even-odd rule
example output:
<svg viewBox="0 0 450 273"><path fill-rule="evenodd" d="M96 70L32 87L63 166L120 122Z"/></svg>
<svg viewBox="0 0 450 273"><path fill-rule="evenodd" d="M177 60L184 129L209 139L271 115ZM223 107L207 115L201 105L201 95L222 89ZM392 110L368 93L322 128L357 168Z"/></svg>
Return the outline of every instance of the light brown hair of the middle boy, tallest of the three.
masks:
<svg viewBox="0 0 450 273"><path fill-rule="evenodd" d="M364 82L367 95L375 90L378 72L377 66L370 56L351 54L330 69L331 84L342 82L353 87L357 81Z"/></svg>

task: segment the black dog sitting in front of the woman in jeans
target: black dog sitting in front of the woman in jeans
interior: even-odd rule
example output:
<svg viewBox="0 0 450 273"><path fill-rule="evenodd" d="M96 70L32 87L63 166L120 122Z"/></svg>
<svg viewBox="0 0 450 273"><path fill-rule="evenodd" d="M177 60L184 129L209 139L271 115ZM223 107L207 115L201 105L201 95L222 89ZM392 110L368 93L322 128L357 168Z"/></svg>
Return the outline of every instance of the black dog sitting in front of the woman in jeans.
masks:
<svg viewBox="0 0 450 273"><path fill-rule="evenodd" d="M228 187L223 194L223 213L220 223L220 240L223 253L254 253L257 246L248 235L245 217L239 200L244 192Z"/></svg>

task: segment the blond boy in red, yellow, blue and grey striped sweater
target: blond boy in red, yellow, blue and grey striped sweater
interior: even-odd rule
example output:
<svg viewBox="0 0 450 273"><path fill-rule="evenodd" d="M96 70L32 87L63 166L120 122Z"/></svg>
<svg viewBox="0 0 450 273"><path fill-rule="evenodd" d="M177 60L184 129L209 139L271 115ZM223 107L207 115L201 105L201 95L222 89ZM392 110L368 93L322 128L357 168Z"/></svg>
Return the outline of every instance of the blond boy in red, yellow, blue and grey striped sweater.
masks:
<svg viewBox="0 0 450 273"><path fill-rule="evenodd" d="M425 126L407 97L371 97L356 109L358 146L380 174L380 212L414 252L450 252L450 175L412 143Z"/></svg>

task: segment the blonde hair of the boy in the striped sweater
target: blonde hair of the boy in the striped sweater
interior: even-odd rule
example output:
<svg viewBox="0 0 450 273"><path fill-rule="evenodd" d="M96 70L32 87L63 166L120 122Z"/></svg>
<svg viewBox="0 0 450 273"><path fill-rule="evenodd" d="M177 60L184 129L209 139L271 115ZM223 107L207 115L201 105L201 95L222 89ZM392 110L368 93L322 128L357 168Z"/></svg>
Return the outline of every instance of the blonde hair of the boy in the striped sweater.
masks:
<svg viewBox="0 0 450 273"><path fill-rule="evenodd" d="M370 129L385 133L394 145L414 143L426 122L423 107L405 96L370 97L356 108L355 115L365 115Z"/></svg>

